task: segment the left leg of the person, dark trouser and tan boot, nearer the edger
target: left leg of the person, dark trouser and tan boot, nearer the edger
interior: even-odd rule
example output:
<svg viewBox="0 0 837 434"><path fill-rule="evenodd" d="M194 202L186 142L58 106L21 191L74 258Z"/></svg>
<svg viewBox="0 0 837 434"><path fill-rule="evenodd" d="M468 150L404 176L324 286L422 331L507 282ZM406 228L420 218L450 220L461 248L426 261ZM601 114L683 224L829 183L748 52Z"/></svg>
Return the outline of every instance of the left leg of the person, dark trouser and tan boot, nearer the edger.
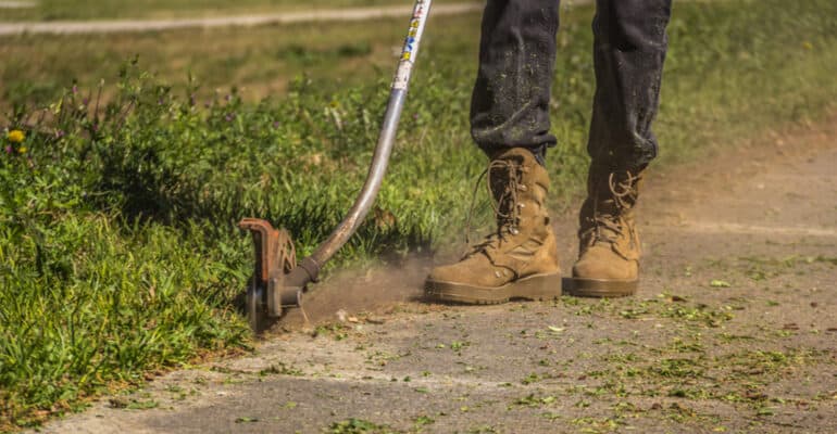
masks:
<svg viewBox="0 0 837 434"><path fill-rule="evenodd" d="M558 0L489 0L483 16L471 132L491 161L488 184L497 230L459 263L434 268L426 292L460 303L561 295L558 246L544 168Z"/></svg>

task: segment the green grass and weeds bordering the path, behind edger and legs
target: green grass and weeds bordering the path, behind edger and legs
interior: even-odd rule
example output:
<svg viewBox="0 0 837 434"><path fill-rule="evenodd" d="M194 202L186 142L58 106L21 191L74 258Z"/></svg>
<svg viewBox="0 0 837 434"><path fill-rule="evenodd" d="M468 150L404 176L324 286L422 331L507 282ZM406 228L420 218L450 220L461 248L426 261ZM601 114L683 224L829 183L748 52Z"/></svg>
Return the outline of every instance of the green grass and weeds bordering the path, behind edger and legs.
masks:
<svg viewBox="0 0 837 434"><path fill-rule="evenodd" d="M829 0L677 3L659 163L700 157L765 126L816 119L837 94L836 8ZM561 145L549 155L557 208L574 205L587 163L590 16L589 8L570 10L559 37L553 130ZM477 22L432 21L376 210L336 266L461 239L472 180L485 163L466 125ZM0 430L78 408L149 370L247 346L235 306L251 246L235 222L282 224L305 255L342 217L365 176L393 66L388 50L403 27L373 24L300 26L290 35L26 37L0 47L11 60L0 66L3 100L14 106L3 124L26 136L0 139L10 146L0 155ZM368 50L341 49L347 35ZM210 42L217 42L213 52L203 48ZM118 62L133 52L141 53L138 66ZM276 52L285 54L268 55ZM114 61L121 66L109 66ZM173 78L186 76L189 62L197 81ZM310 74L292 77L298 71ZM271 89L276 76L287 80L284 94L261 102L245 91L205 90ZM108 78L102 98L100 77ZM54 86L39 85L46 81ZM726 320L689 306L671 316L707 327ZM677 363L649 372L676 374Z"/></svg>

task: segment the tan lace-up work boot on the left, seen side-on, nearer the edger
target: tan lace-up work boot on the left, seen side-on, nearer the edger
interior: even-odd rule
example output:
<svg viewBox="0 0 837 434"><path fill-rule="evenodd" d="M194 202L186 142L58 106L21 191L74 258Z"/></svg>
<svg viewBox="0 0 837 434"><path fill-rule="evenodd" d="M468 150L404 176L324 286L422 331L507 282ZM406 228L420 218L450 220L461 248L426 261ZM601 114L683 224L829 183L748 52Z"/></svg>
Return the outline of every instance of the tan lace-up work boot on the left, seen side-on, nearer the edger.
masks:
<svg viewBox="0 0 837 434"><path fill-rule="evenodd" d="M497 230L459 263L434 268L427 295L467 304L560 296L558 247L546 208L547 170L528 150L512 148L496 155L486 174Z"/></svg>

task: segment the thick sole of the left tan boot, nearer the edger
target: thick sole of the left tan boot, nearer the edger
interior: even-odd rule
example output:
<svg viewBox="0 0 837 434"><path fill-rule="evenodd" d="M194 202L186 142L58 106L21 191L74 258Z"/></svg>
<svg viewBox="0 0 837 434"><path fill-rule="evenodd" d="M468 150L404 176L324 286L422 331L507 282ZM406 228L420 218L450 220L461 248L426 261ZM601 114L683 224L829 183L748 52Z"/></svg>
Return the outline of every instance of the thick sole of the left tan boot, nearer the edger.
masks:
<svg viewBox="0 0 837 434"><path fill-rule="evenodd" d="M428 280L424 290L433 299L469 305L497 305L512 298L547 301L561 296L561 273L533 275L497 288Z"/></svg>

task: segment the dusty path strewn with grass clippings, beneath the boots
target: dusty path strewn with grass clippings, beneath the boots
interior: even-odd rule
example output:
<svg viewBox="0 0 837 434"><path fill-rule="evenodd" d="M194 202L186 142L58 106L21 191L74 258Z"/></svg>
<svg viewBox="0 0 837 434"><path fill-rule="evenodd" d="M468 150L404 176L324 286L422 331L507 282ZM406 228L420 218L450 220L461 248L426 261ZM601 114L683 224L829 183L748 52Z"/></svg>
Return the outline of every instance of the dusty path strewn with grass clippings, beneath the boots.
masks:
<svg viewBox="0 0 837 434"><path fill-rule="evenodd" d="M348 307L341 326L43 432L837 432L836 125L651 174L636 297L353 316L417 296L414 264L387 292L365 278L318 289L311 311ZM559 220L569 268L573 218ZM361 296L341 304L347 286Z"/></svg>

